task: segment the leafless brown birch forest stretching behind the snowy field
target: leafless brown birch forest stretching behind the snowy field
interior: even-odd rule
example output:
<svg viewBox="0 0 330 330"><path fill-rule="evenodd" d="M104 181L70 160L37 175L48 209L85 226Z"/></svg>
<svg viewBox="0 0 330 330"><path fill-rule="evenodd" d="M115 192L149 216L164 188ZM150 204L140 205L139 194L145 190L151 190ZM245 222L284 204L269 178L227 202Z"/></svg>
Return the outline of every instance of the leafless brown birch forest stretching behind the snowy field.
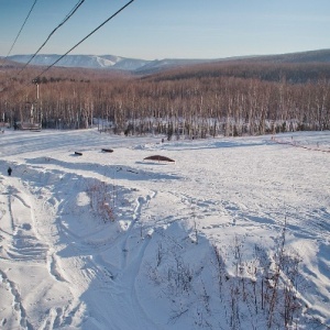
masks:
<svg viewBox="0 0 330 330"><path fill-rule="evenodd" d="M0 118L10 127L87 129L170 139L329 130L330 64L231 61L148 75L2 64Z"/></svg>

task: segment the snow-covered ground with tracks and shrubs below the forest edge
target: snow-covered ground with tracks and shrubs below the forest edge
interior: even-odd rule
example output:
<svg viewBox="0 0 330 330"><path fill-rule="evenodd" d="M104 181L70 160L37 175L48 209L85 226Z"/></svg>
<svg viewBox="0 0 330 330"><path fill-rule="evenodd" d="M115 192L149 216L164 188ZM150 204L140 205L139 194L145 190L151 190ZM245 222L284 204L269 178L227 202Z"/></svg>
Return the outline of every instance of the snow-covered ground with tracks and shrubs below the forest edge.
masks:
<svg viewBox="0 0 330 330"><path fill-rule="evenodd" d="M0 328L329 329L330 132L275 138L6 131Z"/></svg>

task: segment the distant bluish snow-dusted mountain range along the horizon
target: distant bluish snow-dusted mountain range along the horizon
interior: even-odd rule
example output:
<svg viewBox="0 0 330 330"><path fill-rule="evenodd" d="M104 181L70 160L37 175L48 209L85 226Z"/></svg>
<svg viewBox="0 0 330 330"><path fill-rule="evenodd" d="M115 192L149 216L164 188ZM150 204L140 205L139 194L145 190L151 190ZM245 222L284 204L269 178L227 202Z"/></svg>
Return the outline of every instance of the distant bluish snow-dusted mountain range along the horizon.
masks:
<svg viewBox="0 0 330 330"><path fill-rule="evenodd" d="M12 55L8 59L25 64L31 59L32 55ZM47 54L36 55L31 65L51 66L61 55ZM152 73L166 68L187 66L194 64L211 63L211 62L233 62L233 61L262 61L273 63L330 63L330 50L319 50L299 53L288 53L279 55L252 55L240 57L227 57L217 59L182 59L182 58L165 58L165 59L136 59L114 55L66 55L58 61L55 66L62 67L82 67L95 69L117 69L129 70L133 73Z"/></svg>

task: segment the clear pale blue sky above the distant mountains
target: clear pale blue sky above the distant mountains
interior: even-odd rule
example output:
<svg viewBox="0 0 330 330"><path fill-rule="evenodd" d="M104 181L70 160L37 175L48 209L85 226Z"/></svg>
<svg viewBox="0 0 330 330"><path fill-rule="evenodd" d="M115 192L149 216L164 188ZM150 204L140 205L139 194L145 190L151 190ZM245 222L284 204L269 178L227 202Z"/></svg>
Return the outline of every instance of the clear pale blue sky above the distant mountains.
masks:
<svg viewBox="0 0 330 330"><path fill-rule="evenodd" d="M6 56L34 0L0 0ZM78 0L38 0L11 55L33 54ZM42 54L64 54L128 1L86 0ZM135 0L70 54L222 58L330 48L330 0Z"/></svg>

